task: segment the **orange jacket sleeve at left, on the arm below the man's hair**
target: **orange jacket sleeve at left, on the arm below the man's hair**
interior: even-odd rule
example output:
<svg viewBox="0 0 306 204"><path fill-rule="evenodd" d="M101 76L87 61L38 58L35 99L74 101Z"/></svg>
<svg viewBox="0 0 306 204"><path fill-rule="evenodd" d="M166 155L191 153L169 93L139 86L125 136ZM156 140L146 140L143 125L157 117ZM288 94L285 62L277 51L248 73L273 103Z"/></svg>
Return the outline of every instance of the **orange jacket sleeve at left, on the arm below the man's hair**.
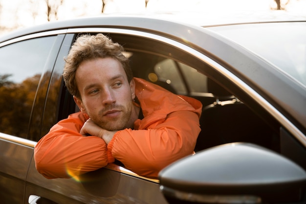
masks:
<svg viewBox="0 0 306 204"><path fill-rule="evenodd" d="M108 160L103 139L79 133L85 121L82 113L73 113L54 125L37 143L35 165L45 178L70 178L113 162Z"/></svg>

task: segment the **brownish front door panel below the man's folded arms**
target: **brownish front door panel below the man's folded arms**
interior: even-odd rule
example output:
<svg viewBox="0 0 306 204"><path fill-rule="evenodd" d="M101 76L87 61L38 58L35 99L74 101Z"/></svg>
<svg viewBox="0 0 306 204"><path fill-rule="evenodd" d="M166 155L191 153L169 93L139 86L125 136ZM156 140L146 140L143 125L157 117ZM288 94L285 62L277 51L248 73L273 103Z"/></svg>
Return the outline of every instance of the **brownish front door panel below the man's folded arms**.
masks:
<svg viewBox="0 0 306 204"><path fill-rule="evenodd" d="M108 167L71 179L49 180L37 172L34 159L26 179L25 200L31 195L65 204L166 204L156 181L121 173Z"/></svg>

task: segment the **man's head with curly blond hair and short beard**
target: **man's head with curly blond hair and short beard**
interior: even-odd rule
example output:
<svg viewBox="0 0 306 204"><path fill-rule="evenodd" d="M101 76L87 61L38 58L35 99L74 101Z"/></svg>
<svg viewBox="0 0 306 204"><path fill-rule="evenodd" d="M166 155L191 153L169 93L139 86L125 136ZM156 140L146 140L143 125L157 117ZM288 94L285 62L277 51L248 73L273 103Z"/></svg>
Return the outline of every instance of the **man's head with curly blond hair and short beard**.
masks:
<svg viewBox="0 0 306 204"><path fill-rule="evenodd" d="M133 127L135 83L123 48L102 34L81 36L66 58L64 80L82 113L105 130Z"/></svg>

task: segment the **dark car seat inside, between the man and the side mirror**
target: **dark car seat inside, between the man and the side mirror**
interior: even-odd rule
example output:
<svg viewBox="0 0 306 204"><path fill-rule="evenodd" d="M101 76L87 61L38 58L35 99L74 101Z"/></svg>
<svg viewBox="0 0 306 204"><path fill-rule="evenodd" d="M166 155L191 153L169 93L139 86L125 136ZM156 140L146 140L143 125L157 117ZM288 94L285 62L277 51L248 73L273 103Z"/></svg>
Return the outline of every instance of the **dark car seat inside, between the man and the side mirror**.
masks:
<svg viewBox="0 0 306 204"><path fill-rule="evenodd" d="M272 145L273 132L258 115L209 78L207 88L214 94L216 101L202 109L196 152L239 141L268 148Z"/></svg>

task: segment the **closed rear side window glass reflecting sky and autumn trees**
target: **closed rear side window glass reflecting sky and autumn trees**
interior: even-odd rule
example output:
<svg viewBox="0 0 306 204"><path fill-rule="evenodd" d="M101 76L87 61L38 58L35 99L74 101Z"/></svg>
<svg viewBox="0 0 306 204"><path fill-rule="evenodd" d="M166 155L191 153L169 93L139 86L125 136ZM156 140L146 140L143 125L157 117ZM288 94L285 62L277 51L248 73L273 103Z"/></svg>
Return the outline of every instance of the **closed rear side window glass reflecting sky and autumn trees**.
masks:
<svg viewBox="0 0 306 204"><path fill-rule="evenodd" d="M44 64L55 36L0 47L0 132L25 138Z"/></svg>

